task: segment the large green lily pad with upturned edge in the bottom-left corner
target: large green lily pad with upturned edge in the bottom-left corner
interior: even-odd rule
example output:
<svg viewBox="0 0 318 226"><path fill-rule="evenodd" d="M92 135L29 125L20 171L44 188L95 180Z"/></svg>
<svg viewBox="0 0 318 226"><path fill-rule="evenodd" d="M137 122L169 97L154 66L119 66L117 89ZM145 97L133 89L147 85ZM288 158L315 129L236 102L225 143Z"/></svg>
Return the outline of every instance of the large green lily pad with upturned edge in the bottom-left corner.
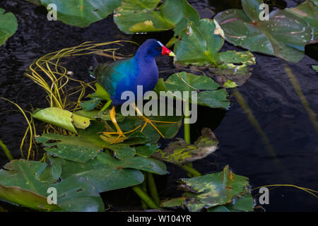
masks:
<svg viewBox="0 0 318 226"><path fill-rule="evenodd" d="M9 162L6 170L0 170L0 198L42 211L104 210L93 184L75 176L55 183L49 168L45 162L23 159ZM47 203L49 187L57 189L57 204Z"/></svg>

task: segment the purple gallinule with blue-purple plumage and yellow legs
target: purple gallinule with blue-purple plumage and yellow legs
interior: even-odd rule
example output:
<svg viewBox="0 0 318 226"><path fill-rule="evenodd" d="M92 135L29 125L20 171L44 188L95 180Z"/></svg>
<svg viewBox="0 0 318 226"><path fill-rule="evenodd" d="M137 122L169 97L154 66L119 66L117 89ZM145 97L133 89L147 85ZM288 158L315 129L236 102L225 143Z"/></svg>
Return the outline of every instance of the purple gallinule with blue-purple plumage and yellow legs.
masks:
<svg viewBox="0 0 318 226"><path fill-rule="evenodd" d="M136 97L137 85L143 86L143 93L155 88L159 78L158 66L155 63L155 57L158 57L160 54L175 57L175 54L167 49L167 47L165 47L161 42L155 39L149 39L141 44L134 57L114 61L112 64L98 64L98 66L95 67L94 74L96 76L96 81L110 94L110 99L113 105L110 110L110 119L116 127L117 132L103 132L105 135L118 135L112 143L124 141L126 138L124 134L131 133L140 127L139 126L132 131L124 133L122 129L119 128L115 119L115 107L122 105L122 103L126 101L121 99L124 91L131 91ZM147 124L151 124L151 126L160 133L160 136L163 136L158 128L155 127L153 122L171 122L153 121L144 117L136 105L134 105L134 108L136 112L141 115L140 117L145 120L145 124L143 124L141 131L143 131Z"/></svg>

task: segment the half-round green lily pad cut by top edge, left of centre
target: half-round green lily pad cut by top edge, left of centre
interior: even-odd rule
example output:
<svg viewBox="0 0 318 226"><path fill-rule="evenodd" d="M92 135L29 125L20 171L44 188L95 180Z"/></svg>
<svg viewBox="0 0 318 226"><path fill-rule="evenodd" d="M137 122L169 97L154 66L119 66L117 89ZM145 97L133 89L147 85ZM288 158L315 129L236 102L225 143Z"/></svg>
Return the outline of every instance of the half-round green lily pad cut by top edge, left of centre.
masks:
<svg viewBox="0 0 318 226"><path fill-rule="evenodd" d="M106 18L114 8L122 4L122 0L40 0L45 6L55 4L57 6L57 20L63 23L85 28L91 23Z"/></svg>

